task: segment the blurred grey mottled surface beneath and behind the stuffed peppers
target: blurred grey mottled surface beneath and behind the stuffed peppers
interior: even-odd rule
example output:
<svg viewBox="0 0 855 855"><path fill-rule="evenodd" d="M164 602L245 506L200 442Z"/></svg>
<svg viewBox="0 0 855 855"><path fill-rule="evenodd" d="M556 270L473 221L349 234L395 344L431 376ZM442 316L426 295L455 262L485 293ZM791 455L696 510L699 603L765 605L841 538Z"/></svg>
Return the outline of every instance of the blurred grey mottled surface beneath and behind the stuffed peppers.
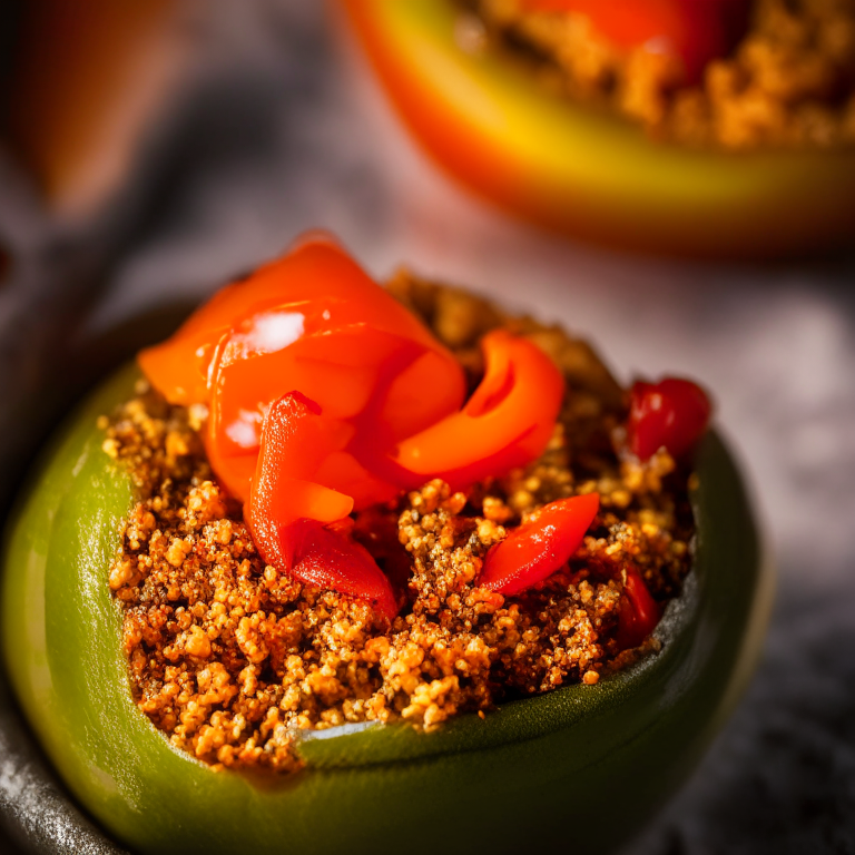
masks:
<svg viewBox="0 0 855 855"><path fill-rule="evenodd" d="M96 228L59 233L0 163L0 234L23 259L0 289L4 497L51 417L42 409L21 431L16 413L47 381L73 391L56 371L65 353L203 296L306 227L334 230L379 275L405 261L556 317L625 379L696 375L755 484L779 596L737 714L628 855L855 853L855 262L641 261L511 222L422 159L328 33L315 4L212 0L196 97L146 204L106 245ZM19 727L0 694L0 815L19 845L114 852L67 813Z"/></svg>

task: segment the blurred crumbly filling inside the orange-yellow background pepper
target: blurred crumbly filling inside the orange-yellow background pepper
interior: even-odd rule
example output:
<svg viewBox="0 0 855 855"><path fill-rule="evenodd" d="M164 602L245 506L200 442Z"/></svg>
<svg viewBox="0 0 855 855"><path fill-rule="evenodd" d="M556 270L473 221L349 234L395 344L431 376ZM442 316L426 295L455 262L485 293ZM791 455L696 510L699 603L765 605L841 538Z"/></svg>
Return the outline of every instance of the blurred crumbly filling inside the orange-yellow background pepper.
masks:
<svg viewBox="0 0 855 855"><path fill-rule="evenodd" d="M462 0L470 49L495 42L544 86L616 110L658 139L733 150L855 144L855 0L755 0L748 33L698 87L672 59L621 51L588 19L524 12L519 0Z"/></svg>

